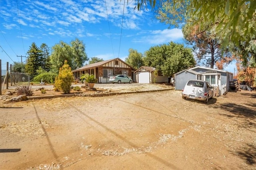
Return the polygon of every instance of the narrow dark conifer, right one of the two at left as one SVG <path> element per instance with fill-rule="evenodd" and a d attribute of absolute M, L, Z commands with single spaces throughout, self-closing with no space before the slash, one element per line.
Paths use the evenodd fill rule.
<path fill-rule="evenodd" d="M 51 62 L 50 62 L 50 48 L 46 43 L 42 43 L 40 46 L 40 50 L 42 51 L 42 69 L 46 72 L 49 72 L 51 69 Z"/>

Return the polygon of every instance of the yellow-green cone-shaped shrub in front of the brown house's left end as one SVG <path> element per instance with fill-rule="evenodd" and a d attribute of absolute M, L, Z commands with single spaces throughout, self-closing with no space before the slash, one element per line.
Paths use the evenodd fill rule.
<path fill-rule="evenodd" d="M 55 78 L 54 86 L 58 90 L 62 90 L 64 94 L 69 94 L 73 79 L 71 68 L 68 65 L 68 61 L 65 60 L 64 65 L 60 68 L 58 77 Z"/>

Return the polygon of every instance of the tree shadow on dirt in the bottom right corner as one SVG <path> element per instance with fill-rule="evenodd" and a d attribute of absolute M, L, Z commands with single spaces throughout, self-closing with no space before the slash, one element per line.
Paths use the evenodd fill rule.
<path fill-rule="evenodd" d="M 231 153 L 242 158 L 246 164 L 256 164 L 256 147 L 252 144 L 247 143 L 246 146 Z"/>

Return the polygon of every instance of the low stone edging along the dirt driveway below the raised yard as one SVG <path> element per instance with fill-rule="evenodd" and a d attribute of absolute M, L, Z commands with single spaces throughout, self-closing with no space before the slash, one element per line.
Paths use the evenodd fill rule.
<path fill-rule="evenodd" d="M 60 94 L 60 95 L 48 95 L 48 96 L 28 96 L 28 100 L 33 99 L 50 99 L 50 98 L 60 98 L 60 97 L 71 97 L 71 96 L 78 96 L 78 97 L 103 97 L 103 96 L 114 96 L 119 94 L 133 94 L 133 93 L 147 93 L 147 92 L 161 92 L 161 91 L 168 91 L 174 90 L 174 88 L 166 88 L 166 89 L 158 89 L 158 90 L 145 90 L 145 91 L 134 91 L 134 92 L 110 92 L 110 93 L 93 93 L 93 94 Z"/>

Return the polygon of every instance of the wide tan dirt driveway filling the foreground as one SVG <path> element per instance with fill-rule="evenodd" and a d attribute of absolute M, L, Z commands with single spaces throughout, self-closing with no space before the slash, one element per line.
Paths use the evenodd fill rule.
<path fill-rule="evenodd" d="M 0 169 L 256 169 L 256 93 L 0 103 Z"/>

